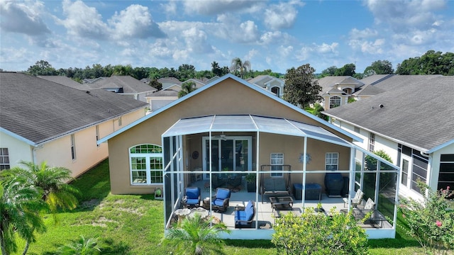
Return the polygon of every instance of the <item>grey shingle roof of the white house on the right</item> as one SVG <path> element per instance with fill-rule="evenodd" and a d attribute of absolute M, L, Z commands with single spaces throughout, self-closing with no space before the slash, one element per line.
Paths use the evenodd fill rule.
<path fill-rule="evenodd" d="M 454 77 L 410 78 L 412 82 L 323 113 L 426 153 L 454 143 Z"/>

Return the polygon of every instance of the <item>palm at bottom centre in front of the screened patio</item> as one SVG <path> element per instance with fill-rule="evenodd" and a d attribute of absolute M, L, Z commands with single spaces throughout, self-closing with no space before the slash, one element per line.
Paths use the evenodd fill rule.
<path fill-rule="evenodd" d="M 221 232 L 230 233 L 226 225 L 219 223 L 211 226 L 211 220 L 202 219 L 196 213 L 194 217 L 184 219 L 166 234 L 167 240 L 175 242 L 177 249 L 186 254 L 223 254 L 223 241 L 219 239 Z"/>

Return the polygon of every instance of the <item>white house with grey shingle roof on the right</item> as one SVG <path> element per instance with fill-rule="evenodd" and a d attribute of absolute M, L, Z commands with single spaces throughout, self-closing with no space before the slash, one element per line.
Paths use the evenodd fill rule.
<path fill-rule="evenodd" d="M 364 149 L 389 154 L 402 169 L 402 196 L 422 198 L 417 180 L 453 187 L 454 77 L 394 75 L 373 86 L 387 91 L 323 113 Z"/>

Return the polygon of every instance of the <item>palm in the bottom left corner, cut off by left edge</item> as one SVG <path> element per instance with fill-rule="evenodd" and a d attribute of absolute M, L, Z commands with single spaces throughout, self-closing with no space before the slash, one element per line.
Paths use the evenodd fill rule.
<path fill-rule="evenodd" d="M 18 249 L 16 237 L 35 242 L 35 231 L 45 232 L 45 225 L 39 212 L 46 207 L 40 199 L 40 191 L 29 185 L 23 176 L 1 178 L 0 186 L 0 245 L 1 254 L 15 253 Z"/>

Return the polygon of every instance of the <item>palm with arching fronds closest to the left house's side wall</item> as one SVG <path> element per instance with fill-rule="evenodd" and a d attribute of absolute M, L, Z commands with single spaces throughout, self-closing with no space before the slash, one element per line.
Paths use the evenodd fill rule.
<path fill-rule="evenodd" d="M 48 204 L 48 208 L 55 215 L 57 208 L 72 210 L 76 208 L 80 193 L 77 188 L 65 183 L 71 180 L 71 171 L 64 167 L 50 167 L 46 162 L 34 164 L 33 162 L 20 162 L 26 169 L 14 167 L 5 170 L 5 176 L 23 176 L 28 183 L 41 190 L 41 198 Z"/>

